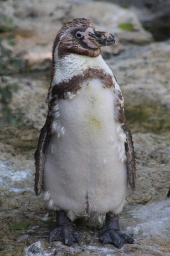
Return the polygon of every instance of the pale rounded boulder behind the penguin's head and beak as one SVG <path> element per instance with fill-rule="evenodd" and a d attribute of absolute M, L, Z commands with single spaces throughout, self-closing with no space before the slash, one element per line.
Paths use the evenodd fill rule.
<path fill-rule="evenodd" d="M 151 41 L 151 34 L 145 31 L 137 16 L 126 9 L 120 8 L 115 4 L 106 2 L 87 3 L 83 6 L 73 7 L 70 12 L 71 17 L 92 19 L 101 31 L 106 29 L 118 38 L 120 42 L 128 43 L 148 43 Z M 122 29 L 121 24 L 131 24 L 132 27 Z M 126 26 L 125 26 L 126 27 Z"/>

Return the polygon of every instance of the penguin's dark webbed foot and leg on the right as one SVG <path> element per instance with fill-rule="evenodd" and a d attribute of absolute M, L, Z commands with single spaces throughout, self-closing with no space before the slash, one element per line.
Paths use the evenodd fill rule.
<path fill-rule="evenodd" d="M 134 243 L 133 238 L 130 235 L 122 233 L 119 227 L 119 215 L 112 213 L 106 213 L 106 222 L 102 229 L 103 234 L 100 239 L 103 244 L 111 243 L 117 248 L 122 248 L 123 244 Z"/>

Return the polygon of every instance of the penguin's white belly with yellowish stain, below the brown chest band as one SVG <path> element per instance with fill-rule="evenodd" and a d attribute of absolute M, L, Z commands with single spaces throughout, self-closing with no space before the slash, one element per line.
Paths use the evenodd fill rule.
<path fill-rule="evenodd" d="M 51 135 L 44 166 L 49 207 L 74 218 L 119 213 L 127 190 L 126 137 L 114 119 L 114 93 L 94 79 L 58 104 L 64 132 Z"/>

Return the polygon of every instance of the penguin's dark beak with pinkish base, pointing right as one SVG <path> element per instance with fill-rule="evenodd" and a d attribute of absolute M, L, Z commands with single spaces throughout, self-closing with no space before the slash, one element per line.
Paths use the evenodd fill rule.
<path fill-rule="evenodd" d="M 101 31 L 94 31 L 93 33 L 89 32 L 88 39 L 97 47 L 109 46 L 114 44 L 116 41 L 114 35 L 109 32 Z"/>

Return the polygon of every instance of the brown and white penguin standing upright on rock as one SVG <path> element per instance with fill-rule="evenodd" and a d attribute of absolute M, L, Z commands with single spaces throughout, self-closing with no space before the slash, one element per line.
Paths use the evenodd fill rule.
<path fill-rule="evenodd" d="M 105 216 L 100 240 L 121 248 L 119 214 L 128 183 L 136 187 L 135 152 L 123 96 L 101 47 L 115 43 L 90 19 L 76 18 L 53 43 L 48 114 L 35 151 L 35 194 L 56 211 L 49 243 L 80 243 L 73 221 Z"/>

